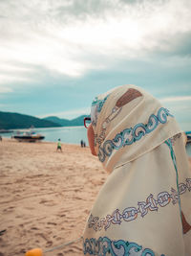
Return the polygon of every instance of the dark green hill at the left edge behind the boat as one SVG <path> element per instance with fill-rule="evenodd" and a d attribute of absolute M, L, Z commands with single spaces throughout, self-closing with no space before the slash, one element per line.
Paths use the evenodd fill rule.
<path fill-rule="evenodd" d="M 44 120 L 29 115 L 0 111 L 0 129 L 31 127 L 53 128 L 61 127 L 61 125 L 59 125 L 58 123 L 53 123 L 49 120 Z"/>

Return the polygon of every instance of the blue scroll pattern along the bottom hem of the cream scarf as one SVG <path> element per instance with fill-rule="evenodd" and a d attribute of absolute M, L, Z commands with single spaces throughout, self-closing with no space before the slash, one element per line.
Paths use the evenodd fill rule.
<path fill-rule="evenodd" d="M 108 253 L 112 256 L 155 256 L 153 250 L 149 248 L 143 249 L 141 245 L 136 243 L 129 243 L 124 240 L 112 241 L 108 237 L 99 237 L 98 240 L 95 238 L 86 239 L 83 242 L 84 255 L 89 253 L 91 255 L 105 256 Z M 164 256 L 161 254 L 160 256 Z"/>

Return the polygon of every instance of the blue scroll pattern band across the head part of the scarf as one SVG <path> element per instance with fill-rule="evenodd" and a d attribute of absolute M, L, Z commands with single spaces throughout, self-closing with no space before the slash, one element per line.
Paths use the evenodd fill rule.
<path fill-rule="evenodd" d="M 106 156 L 110 156 L 114 150 L 119 150 L 127 145 L 140 140 L 145 134 L 152 132 L 159 124 L 165 124 L 168 117 L 174 117 L 170 114 L 169 110 L 164 107 L 160 107 L 158 114 L 152 114 L 146 125 L 139 123 L 134 128 L 125 128 L 120 133 L 117 133 L 113 140 L 107 140 L 103 143 L 102 147 L 99 147 L 98 158 L 99 161 L 104 162 Z"/>

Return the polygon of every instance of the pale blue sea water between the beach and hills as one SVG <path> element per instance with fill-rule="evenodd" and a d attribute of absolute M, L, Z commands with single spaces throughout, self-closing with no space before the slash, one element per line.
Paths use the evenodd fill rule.
<path fill-rule="evenodd" d="M 84 127 L 33 128 L 32 130 L 45 136 L 44 141 L 57 142 L 60 139 L 62 143 L 80 145 L 80 141 L 83 140 L 88 145 L 87 129 Z M 16 131 L 14 130 L 13 134 Z M 0 133 L 0 135 L 10 138 L 12 133 Z M 186 146 L 186 151 L 191 156 L 191 144 Z"/>

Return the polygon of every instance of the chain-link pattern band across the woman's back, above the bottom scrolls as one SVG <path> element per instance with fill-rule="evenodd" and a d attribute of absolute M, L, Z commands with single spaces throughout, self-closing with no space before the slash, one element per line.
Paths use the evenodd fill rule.
<path fill-rule="evenodd" d="M 136 221 L 138 214 L 143 218 L 149 211 L 158 211 L 159 207 L 165 207 L 171 201 L 175 205 L 177 202 L 180 202 L 180 195 L 186 191 L 191 191 L 191 178 L 186 178 L 185 183 L 178 184 L 178 188 L 178 192 L 174 188 L 171 188 L 171 193 L 162 191 L 158 194 L 157 198 L 150 194 L 145 201 L 138 201 L 138 207 L 130 206 L 121 212 L 116 209 L 112 214 L 108 214 L 100 219 L 91 214 L 88 220 L 88 227 L 93 228 L 95 231 L 100 231 L 102 228 L 107 230 L 113 224 L 120 225 L 122 221 Z"/>

